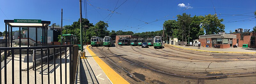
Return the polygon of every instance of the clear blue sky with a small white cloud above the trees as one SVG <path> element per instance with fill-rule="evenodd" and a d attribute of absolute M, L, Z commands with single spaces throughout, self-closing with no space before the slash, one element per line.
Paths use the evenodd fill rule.
<path fill-rule="evenodd" d="M 90 23 L 96 24 L 114 11 L 116 4 L 117 8 L 126 0 L 88 1 L 87 18 Z M 97 7 L 102 9 L 97 9 Z M 235 31 L 236 28 L 252 30 L 256 24 L 253 13 L 256 10 L 256 0 L 127 0 L 115 10 L 117 13 L 109 15 L 103 21 L 108 21 L 108 30 L 156 31 L 163 29 L 161 26 L 165 21 L 156 21 L 156 19 L 177 19 L 173 17 L 184 12 L 191 15 L 214 14 L 213 7 L 220 16 L 219 19 L 224 19 L 225 22 L 222 23 L 225 24 L 227 33 L 229 30 Z M 1 0 L 0 8 L 4 12 L 0 11 L 0 31 L 2 32 L 5 30 L 4 19 L 42 19 L 61 24 L 61 8 L 63 8 L 63 26 L 71 25 L 79 19 L 79 0 Z M 188 9 L 184 10 L 185 8 Z M 84 2 L 82 2 L 82 9 L 84 18 Z M 155 22 L 141 25 L 144 24 L 142 21 Z M 137 27 L 134 28 L 135 26 Z"/>

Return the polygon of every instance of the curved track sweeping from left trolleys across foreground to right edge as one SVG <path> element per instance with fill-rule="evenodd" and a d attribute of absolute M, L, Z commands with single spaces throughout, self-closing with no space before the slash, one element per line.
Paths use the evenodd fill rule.
<path fill-rule="evenodd" d="M 104 48 L 104 47 L 103 47 Z M 103 50 L 102 48 L 102 50 Z M 109 49 L 108 49 L 109 50 Z M 129 61 L 123 57 L 120 57 L 118 55 L 116 55 L 115 53 L 113 53 L 112 51 L 109 50 L 110 53 L 112 53 L 113 55 L 115 55 L 116 57 L 120 58 L 120 59 L 123 59 L 129 63 L 132 63 L 134 65 L 137 65 L 137 66 L 140 66 L 140 67 L 143 67 L 143 68 L 146 68 L 146 69 L 149 69 L 149 70 L 152 70 L 152 71 L 155 71 L 155 72 L 158 72 L 158 73 L 163 73 L 163 74 L 167 74 L 167 75 L 172 75 L 172 76 L 176 76 L 176 77 L 183 77 L 183 78 L 191 78 L 191 79 L 221 79 L 219 77 L 223 77 L 223 76 L 232 76 L 232 75 L 242 75 L 242 74 L 255 74 L 255 72 L 248 72 L 248 73 L 233 73 L 233 74 L 223 74 L 223 75 L 214 75 L 214 76 L 186 76 L 186 75 L 178 75 L 178 74 L 174 74 L 174 73 L 166 73 L 164 71 L 159 71 L 159 70 L 155 70 L 155 69 L 152 69 L 152 68 L 149 68 L 149 67 L 145 67 L 145 66 L 142 66 L 142 65 L 139 65 L 139 64 L 136 64 L 132 61 Z M 102 53 L 104 53 L 102 51 Z M 106 56 L 106 55 L 105 55 Z M 106 56 L 107 57 L 107 56 Z M 117 65 L 117 64 L 116 64 Z M 121 66 L 120 66 L 121 67 Z"/>

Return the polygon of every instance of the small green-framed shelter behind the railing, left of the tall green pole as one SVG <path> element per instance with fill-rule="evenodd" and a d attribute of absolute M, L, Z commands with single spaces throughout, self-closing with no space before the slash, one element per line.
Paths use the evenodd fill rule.
<path fill-rule="evenodd" d="M 77 44 L 77 36 L 73 34 L 62 34 L 66 45 Z"/>

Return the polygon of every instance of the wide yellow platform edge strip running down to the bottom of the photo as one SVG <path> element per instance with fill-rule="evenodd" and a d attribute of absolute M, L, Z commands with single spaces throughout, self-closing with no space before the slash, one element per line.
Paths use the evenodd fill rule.
<path fill-rule="evenodd" d="M 92 55 L 93 59 L 100 66 L 102 71 L 108 76 L 108 79 L 113 84 L 130 84 L 122 76 L 120 76 L 118 73 L 116 73 L 111 67 L 109 67 L 104 61 L 102 61 L 100 59 L 100 57 L 98 57 L 95 53 L 93 53 L 92 50 L 89 49 L 89 46 L 87 46 L 86 49 L 89 51 L 89 53 Z"/>

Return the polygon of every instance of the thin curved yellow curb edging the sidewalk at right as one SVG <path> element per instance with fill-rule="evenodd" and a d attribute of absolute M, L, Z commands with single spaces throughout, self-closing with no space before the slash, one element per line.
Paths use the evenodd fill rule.
<path fill-rule="evenodd" d="M 196 50 L 196 49 L 189 49 L 189 48 L 183 48 L 183 47 L 178 47 L 175 45 L 171 45 L 177 48 L 181 49 L 187 49 L 187 50 Z M 213 52 L 213 53 L 245 53 L 245 54 L 256 54 L 256 52 L 223 52 L 223 51 L 206 51 L 206 50 L 196 50 L 196 51 L 202 51 L 202 52 Z"/>

